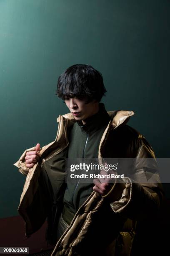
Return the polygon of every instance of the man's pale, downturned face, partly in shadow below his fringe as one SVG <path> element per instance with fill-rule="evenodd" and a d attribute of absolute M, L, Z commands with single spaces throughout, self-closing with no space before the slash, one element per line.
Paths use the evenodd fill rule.
<path fill-rule="evenodd" d="M 85 124 L 85 119 L 96 114 L 99 110 L 99 102 L 93 100 L 92 102 L 86 103 L 86 99 L 78 99 L 77 97 L 65 97 L 65 104 L 69 108 L 75 120 Z"/>

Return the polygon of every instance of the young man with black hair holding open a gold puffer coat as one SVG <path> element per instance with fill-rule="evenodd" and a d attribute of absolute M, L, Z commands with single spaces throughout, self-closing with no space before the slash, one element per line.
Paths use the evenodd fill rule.
<path fill-rule="evenodd" d="M 27 175 L 20 215 L 27 236 L 48 221 L 52 255 L 130 255 L 136 220 L 155 214 L 163 199 L 155 159 L 145 138 L 126 125 L 133 111 L 110 111 L 100 103 L 102 75 L 77 64 L 60 75 L 57 95 L 70 110 L 60 115 L 55 141 L 26 150 L 15 166 Z M 152 183 L 130 177 L 65 183 L 65 159 L 135 159 L 135 181 L 152 173 Z M 139 159 L 143 161 L 139 161 Z M 156 163 L 156 161 L 154 160 Z M 147 163 L 147 164 L 146 164 Z M 105 171 L 101 171 L 103 174 Z"/>

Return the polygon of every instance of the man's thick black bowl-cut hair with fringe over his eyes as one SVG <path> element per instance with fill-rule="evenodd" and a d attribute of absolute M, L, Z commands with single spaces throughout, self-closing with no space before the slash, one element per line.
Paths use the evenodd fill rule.
<path fill-rule="evenodd" d="M 62 100 L 65 97 L 86 98 L 100 102 L 106 89 L 102 74 L 90 65 L 75 64 L 60 75 L 57 82 L 56 95 Z"/>

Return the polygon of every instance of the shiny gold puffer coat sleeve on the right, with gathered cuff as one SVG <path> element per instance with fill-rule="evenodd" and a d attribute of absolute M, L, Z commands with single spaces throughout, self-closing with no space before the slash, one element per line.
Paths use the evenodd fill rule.
<path fill-rule="evenodd" d="M 155 215 L 163 202 L 164 192 L 152 147 L 141 134 L 135 140 L 135 146 L 137 155 L 133 178 L 125 177 L 122 183 L 116 179 L 110 192 L 103 197 L 109 200 L 114 212 L 126 218 L 142 220 Z M 143 182 L 144 177 L 152 177 L 152 183 Z"/>

